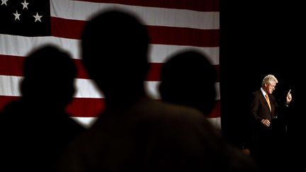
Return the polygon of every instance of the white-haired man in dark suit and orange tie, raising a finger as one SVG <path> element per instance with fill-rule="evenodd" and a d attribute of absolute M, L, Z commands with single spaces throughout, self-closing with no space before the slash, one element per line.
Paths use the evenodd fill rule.
<path fill-rule="evenodd" d="M 251 156 L 254 157 L 260 168 L 275 169 L 283 150 L 283 133 L 285 125 L 284 108 L 292 101 L 290 90 L 285 103 L 278 103 L 272 95 L 278 80 L 268 74 L 263 78 L 261 88 L 252 94 L 250 113 L 253 119 L 251 130 Z M 277 165 L 279 166 L 279 165 Z"/>

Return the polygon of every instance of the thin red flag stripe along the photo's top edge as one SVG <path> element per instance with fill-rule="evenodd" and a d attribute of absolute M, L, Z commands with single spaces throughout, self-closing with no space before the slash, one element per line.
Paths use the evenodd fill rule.
<path fill-rule="evenodd" d="M 154 0 L 154 1 L 143 1 L 143 0 L 79 0 L 89 2 L 100 2 L 110 4 L 125 4 L 132 6 L 151 6 L 161 8 L 178 8 L 178 9 L 190 9 L 195 11 L 219 11 L 219 0 Z"/>

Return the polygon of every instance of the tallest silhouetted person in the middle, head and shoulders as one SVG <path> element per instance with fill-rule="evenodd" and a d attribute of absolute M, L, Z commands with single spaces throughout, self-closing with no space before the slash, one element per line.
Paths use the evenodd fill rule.
<path fill-rule="evenodd" d="M 103 11 L 81 38 L 84 67 L 104 93 L 106 111 L 69 147 L 61 171 L 223 169 L 221 138 L 200 111 L 145 94 L 149 37 L 139 19 Z"/>

